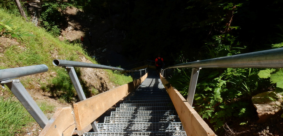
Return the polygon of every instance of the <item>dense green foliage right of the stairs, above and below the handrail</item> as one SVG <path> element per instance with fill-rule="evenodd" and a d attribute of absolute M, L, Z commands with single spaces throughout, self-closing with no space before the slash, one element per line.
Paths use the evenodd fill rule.
<path fill-rule="evenodd" d="M 267 23 L 262 29 L 270 29 L 265 35 L 256 31 L 262 29 L 245 28 L 245 23 L 250 20 L 258 20 L 258 10 L 253 6 L 258 5 L 252 1 L 189 1 L 188 10 L 190 10 L 191 21 L 186 24 L 185 30 L 195 30 L 197 36 L 199 31 L 206 33 L 204 43 L 202 43 L 199 54 L 196 59 L 211 59 L 221 56 L 230 56 L 240 53 L 252 52 L 256 50 L 271 49 L 273 47 L 282 47 L 282 28 L 280 17 L 282 8 L 277 7 L 279 1 L 268 3 L 261 18 L 269 18 L 267 13 L 276 16 L 274 22 Z M 263 10 L 263 9 L 260 9 Z M 251 18 L 246 18 L 246 13 L 254 13 Z M 261 11 L 263 13 L 263 11 Z M 245 20 L 244 22 L 244 19 Z M 259 23 L 259 22 L 257 22 Z M 256 24 L 259 25 L 259 24 Z M 246 34 L 249 33 L 249 36 Z M 280 33 L 280 34 L 278 34 Z M 269 36 L 272 35 L 272 36 Z M 253 38 L 257 39 L 256 41 Z M 261 42 L 261 43 L 260 43 Z M 279 43 L 279 44 L 275 44 Z M 187 58 L 187 59 L 184 59 Z M 190 56 L 181 54 L 179 62 L 184 63 L 192 60 Z M 190 70 L 177 69 L 170 82 L 185 97 L 188 93 L 190 82 Z M 270 81 L 272 84 L 270 84 Z M 275 86 L 282 88 L 282 70 L 281 69 L 256 69 L 256 68 L 227 68 L 227 69 L 202 69 L 198 79 L 196 93 L 194 96 L 195 109 L 206 119 L 214 130 L 221 134 L 224 124 L 238 123 L 246 125 L 254 116 L 255 109 L 251 103 L 251 97 L 263 91 L 270 91 Z M 282 89 L 276 89 L 282 90 Z M 238 119 L 241 122 L 238 122 Z"/>

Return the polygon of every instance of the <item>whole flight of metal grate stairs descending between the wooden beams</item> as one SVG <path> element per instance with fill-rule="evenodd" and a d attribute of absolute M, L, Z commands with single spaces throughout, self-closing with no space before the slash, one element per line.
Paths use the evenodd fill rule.
<path fill-rule="evenodd" d="M 98 123 L 99 133 L 84 133 L 84 136 L 186 136 L 182 124 L 158 77 L 147 77 L 128 96 L 104 123 Z"/>

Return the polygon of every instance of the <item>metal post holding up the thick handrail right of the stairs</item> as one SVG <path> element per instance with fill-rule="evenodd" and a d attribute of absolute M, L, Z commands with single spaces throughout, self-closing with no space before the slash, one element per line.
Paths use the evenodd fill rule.
<path fill-rule="evenodd" d="M 199 77 L 199 70 L 201 68 L 192 68 L 192 75 L 190 79 L 190 86 L 188 91 L 187 101 L 192 106 L 192 102 L 194 100 L 194 92 L 197 86 L 197 78 Z"/>

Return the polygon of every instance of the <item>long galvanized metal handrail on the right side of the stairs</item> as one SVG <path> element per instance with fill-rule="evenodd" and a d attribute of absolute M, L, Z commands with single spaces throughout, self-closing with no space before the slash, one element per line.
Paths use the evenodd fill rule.
<path fill-rule="evenodd" d="M 169 68 L 283 68 L 283 48 L 177 64 L 164 70 Z"/>

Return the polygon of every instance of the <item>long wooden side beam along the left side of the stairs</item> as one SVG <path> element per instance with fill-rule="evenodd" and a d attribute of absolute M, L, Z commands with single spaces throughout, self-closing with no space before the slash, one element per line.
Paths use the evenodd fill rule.
<path fill-rule="evenodd" d="M 123 99 L 146 79 L 148 74 L 128 84 L 100 93 L 86 100 L 73 104 L 77 130 L 83 130 L 105 111 Z"/>

